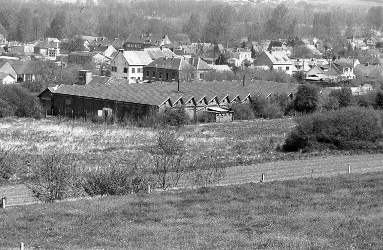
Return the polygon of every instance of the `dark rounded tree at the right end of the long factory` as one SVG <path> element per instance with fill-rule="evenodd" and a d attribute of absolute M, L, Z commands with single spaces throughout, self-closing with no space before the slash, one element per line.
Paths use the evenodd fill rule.
<path fill-rule="evenodd" d="M 311 113 L 319 104 L 319 88 L 313 84 L 302 84 L 298 87 L 294 107 L 297 111 Z"/>

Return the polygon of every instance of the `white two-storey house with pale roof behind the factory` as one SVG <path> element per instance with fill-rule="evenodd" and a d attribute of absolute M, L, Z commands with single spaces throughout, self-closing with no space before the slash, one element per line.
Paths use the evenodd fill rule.
<path fill-rule="evenodd" d="M 110 63 L 110 76 L 129 79 L 129 82 L 143 79 L 143 67 L 153 60 L 146 51 L 120 49 Z"/>

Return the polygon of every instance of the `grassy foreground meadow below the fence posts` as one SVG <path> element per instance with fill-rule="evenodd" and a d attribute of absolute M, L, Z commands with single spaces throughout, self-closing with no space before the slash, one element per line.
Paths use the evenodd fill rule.
<path fill-rule="evenodd" d="M 0 210 L 0 249 L 379 249 L 383 172 Z"/>

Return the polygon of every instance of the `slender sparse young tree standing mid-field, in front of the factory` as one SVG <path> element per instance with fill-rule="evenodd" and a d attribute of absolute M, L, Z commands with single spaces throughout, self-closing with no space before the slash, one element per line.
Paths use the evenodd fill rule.
<path fill-rule="evenodd" d="M 177 186 L 180 178 L 190 171 L 185 162 L 184 142 L 169 128 L 158 131 L 155 145 L 145 148 L 153 161 L 153 174 L 163 190 Z"/>

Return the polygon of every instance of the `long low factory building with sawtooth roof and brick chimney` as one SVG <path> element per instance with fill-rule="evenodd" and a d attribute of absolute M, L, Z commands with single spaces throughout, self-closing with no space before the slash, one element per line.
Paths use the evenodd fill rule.
<path fill-rule="evenodd" d="M 63 84 L 39 94 L 48 114 L 73 117 L 90 113 L 116 117 L 127 114 L 142 118 L 151 115 L 153 110 L 184 105 L 190 119 L 207 112 L 214 114 L 216 122 L 224 122 L 232 120 L 233 112 L 227 109 L 232 103 L 266 98 L 271 93 L 291 95 L 299 86 L 257 80 L 245 85 L 242 81 L 128 84 L 129 79 L 94 76 L 90 71 L 82 72 L 79 79 L 79 84 Z"/>

